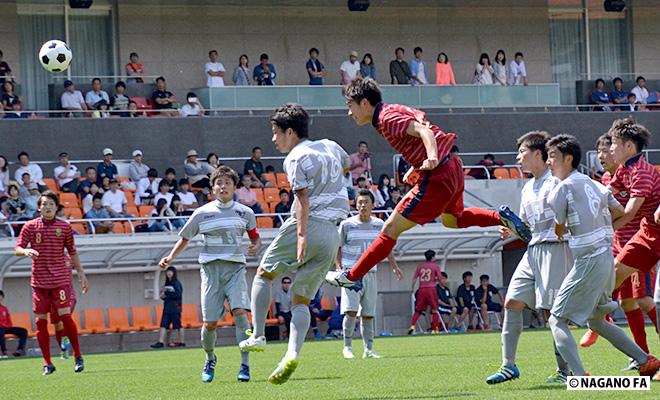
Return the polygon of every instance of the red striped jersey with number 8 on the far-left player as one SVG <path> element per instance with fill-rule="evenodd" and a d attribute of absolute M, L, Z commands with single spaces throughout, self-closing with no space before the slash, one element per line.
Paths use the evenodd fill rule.
<path fill-rule="evenodd" d="M 32 279 L 35 288 L 54 289 L 71 285 L 71 266 L 67 266 L 64 249 L 70 256 L 77 254 L 71 225 L 59 218 L 46 221 L 35 218 L 21 230 L 16 247 L 30 245 L 39 252 L 32 260 Z"/>

